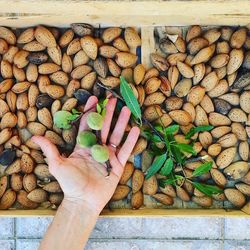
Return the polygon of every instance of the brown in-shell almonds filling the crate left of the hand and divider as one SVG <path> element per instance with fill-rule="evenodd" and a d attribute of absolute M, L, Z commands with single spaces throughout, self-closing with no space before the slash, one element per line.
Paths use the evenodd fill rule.
<path fill-rule="evenodd" d="M 58 110 L 82 111 L 92 94 L 104 97 L 137 62 L 141 39 L 134 28 L 89 24 L 63 30 L 44 26 L 25 30 L 0 27 L 0 209 L 58 206 L 63 193 L 40 148 L 41 135 L 65 155 L 72 152 L 77 128 L 53 124 Z"/>

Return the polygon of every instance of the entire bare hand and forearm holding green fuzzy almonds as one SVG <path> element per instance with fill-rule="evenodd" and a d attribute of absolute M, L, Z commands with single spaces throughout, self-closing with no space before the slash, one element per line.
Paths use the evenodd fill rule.
<path fill-rule="evenodd" d="M 91 96 L 86 103 L 85 111 L 95 111 L 97 102 L 97 98 Z M 106 164 L 99 164 L 93 160 L 89 149 L 82 149 L 76 145 L 73 153 L 65 158 L 46 138 L 32 137 L 47 157 L 49 170 L 64 192 L 64 200 L 40 249 L 83 249 L 100 212 L 112 197 L 140 134 L 139 128 L 133 127 L 124 144 L 120 145 L 130 118 L 130 110 L 123 107 L 114 130 L 110 131 L 116 102 L 115 98 L 109 99 L 101 130 L 101 141 L 109 148 L 109 161 L 112 167 L 108 177 Z M 79 132 L 89 130 L 86 122 L 87 114 L 88 112 L 81 118 Z M 111 146 L 112 144 L 117 148 Z"/>

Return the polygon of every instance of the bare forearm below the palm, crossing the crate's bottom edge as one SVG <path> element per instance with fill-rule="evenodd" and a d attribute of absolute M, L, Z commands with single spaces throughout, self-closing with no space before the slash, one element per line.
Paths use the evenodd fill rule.
<path fill-rule="evenodd" d="M 41 243 L 40 250 L 83 249 L 99 213 L 84 204 L 63 201 Z"/>

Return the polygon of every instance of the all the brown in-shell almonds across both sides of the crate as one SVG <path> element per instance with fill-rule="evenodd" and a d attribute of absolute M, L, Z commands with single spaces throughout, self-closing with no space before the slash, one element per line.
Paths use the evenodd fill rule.
<path fill-rule="evenodd" d="M 148 121 L 164 127 L 180 125 L 174 135 L 177 142 L 189 143 L 185 134 L 193 126 L 214 126 L 194 135 L 194 149 L 213 161 L 201 182 L 210 181 L 224 193 L 207 197 L 189 182 L 161 188 L 160 175 L 145 180 L 153 159 L 147 140 L 140 137 L 133 156 L 141 154 L 141 168 L 126 164 L 111 201 L 129 197 L 131 207 L 138 209 L 146 196 L 164 205 L 179 198 L 204 207 L 213 200 L 228 200 L 250 213 L 249 30 L 191 26 L 185 35 L 167 34 L 159 40 L 160 51 L 151 54 L 149 69 L 137 63 L 135 51 L 140 45 L 140 36 L 130 27 L 99 30 L 72 24 L 67 30 L 37 26 L 21 31 L 0 27 L 0 164 L 4 166 L 0 209 L 60 204 L 61 188 L 30 137 L 43 135 L 68 155 L 77 128 L 56 128 L 55 112 L 82 111 L 90 95 L 105 96 L 97 82 L 116 89 L 122 75 Z M 187 163 L 185 173 L 191 176 L 201 164 Z"/>

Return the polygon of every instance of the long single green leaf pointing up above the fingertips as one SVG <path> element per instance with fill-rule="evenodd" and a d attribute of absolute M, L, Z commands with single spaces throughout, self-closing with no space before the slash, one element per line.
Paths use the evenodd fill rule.
<path fill-rule="evenodd" d="M 142 122 L 141 122 L 140 105 L 139 105 L 132 89 L 130 88 L 129 84 L 127 83 L 127 81 L 125 80 L 125 78 L 123 76 L 120 77 L 120 92 L 121 92 L 121 95 L 122 95 L 126 105 L 130 109 L 131 113 L 134 115 L 134 117 L 137 120 L 139 120 L 139 122 L 141 124 Z"/>

